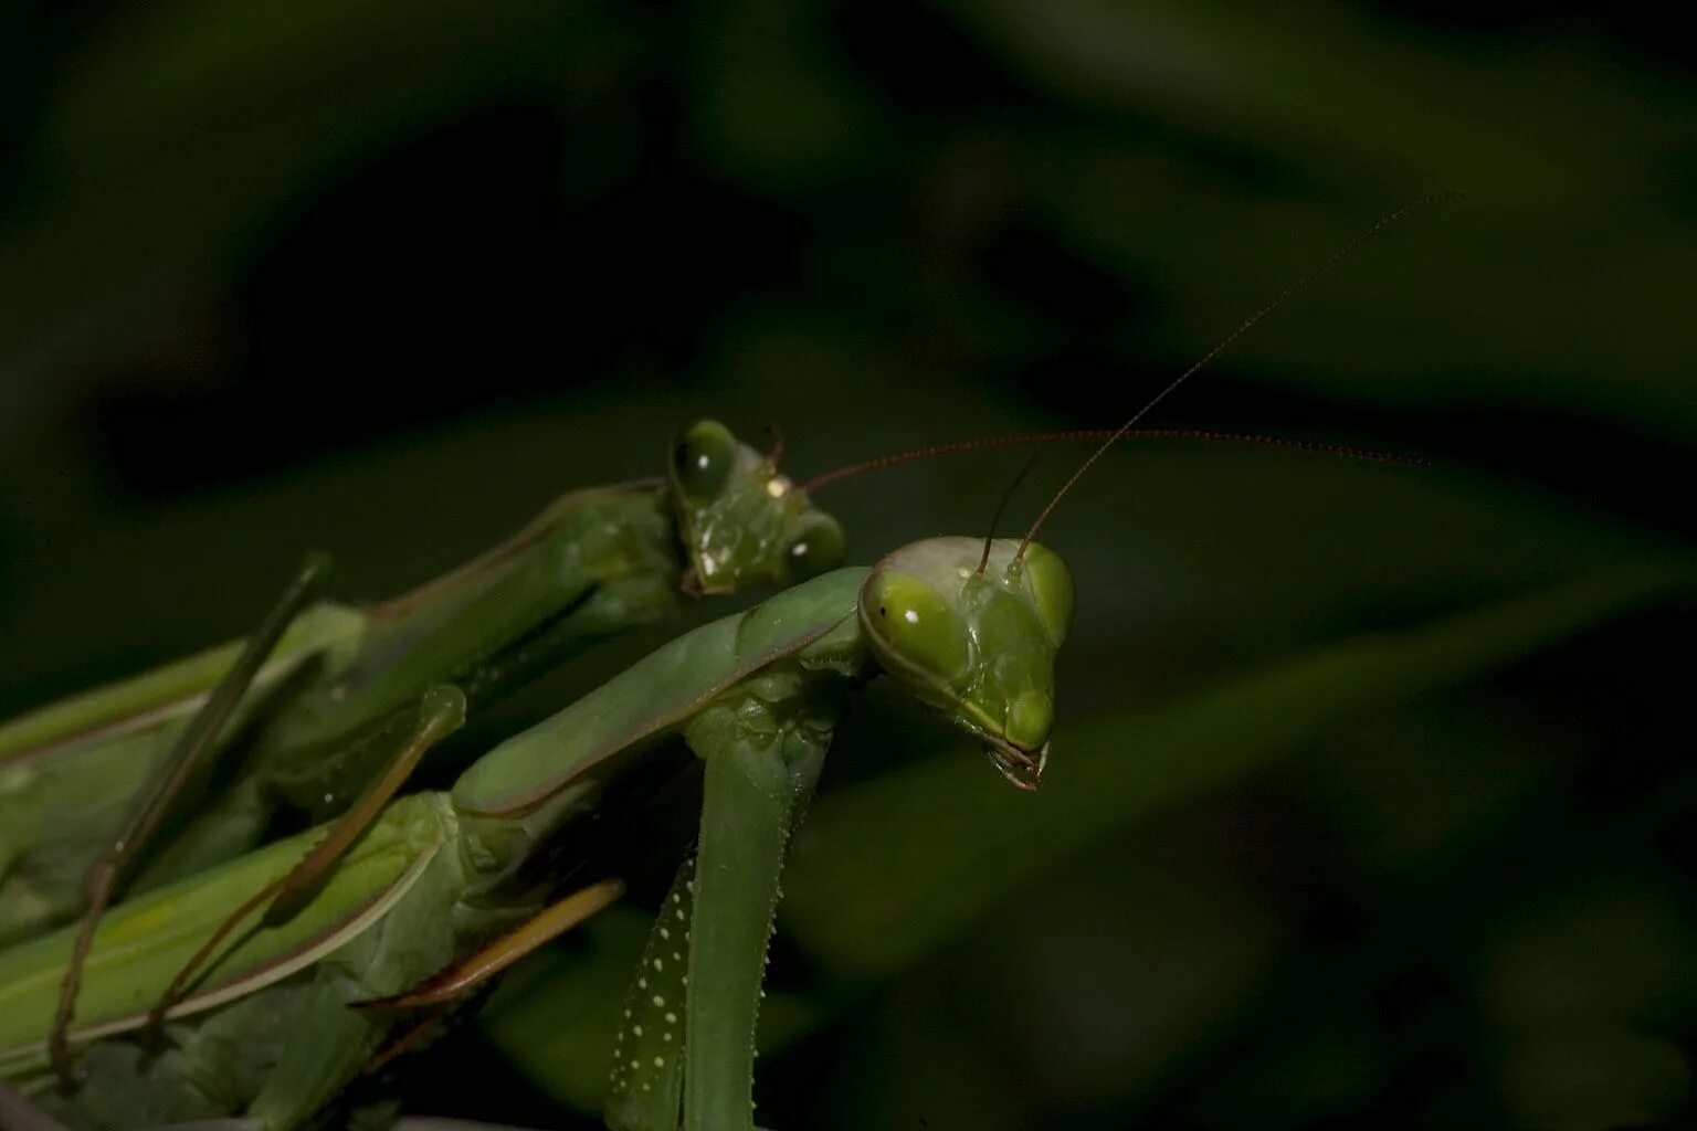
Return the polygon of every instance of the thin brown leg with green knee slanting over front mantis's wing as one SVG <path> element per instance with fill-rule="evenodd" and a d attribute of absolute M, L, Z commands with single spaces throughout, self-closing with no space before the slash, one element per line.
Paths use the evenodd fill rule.
<path fill-rule="evenodd" d="M 324 877 L 329 875 L 329 870 L 336 866 L 336 861 L 353 848 L 360 836 L 372 826 L 372 821 L 382 814 L 384 805 L 389 804 L 412 775 L 424 751 L 453 734 L 463 722 L 465 694 L 460 688 L 440 683 L 426 690 L 419 700 L 417 724 L 395 749 L 384 772 L 365 787 L 353 807 L 302 856 L 300 863 L 277 882 L 255 892 L 251 899 L 243 902 L 207 936 L 207 941 L 176 972 L 176 977 L 171 978 L 160 1002 L 153 1007 L 151 1024 L 165 1019 L 165 1012 L 182 999 L 183 990 L 187 990 L 195 973 L 217 951 L 229 933 L 246 921 L 256 907 L 266 907 L 265 919 L 261 921 L 263 926 L 275 926 L 294 916 L 312 897 Z"/>

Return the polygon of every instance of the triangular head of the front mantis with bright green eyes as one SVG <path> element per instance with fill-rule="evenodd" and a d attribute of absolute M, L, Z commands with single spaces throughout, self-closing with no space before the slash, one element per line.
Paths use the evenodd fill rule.
<path fill-rule="evenodd" d="M 983 568 L 979 563 L 983 561 Z M 1020 788 L 1037 788 L 1054 724 L 1054 661 L 1073 624 L 1073 575 L 1037 543 L 984 553 L 930 538 L 879 561 L 860 587 L 872 655 L 923 702 L 984 743 Z"/>

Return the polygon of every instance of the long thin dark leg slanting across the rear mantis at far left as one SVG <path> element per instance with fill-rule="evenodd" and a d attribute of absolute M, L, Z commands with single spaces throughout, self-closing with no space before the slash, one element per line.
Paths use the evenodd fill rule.
<path fill-rule="evenodd" d="M 183 729 L 176 748 L 165 760 L 160 777 L 154 780 L 148 799 L 136 811 L 124 831 L 112 846 L 102 853 L 100 860 L 88 870 L 88 911 L 83 914 L 76 933 L 76 948 L 71 963 L 64 972 L 64 983 L 59 989 L 59 1007 L 53 1017 L 53 1033 L 48 1048 L 53 1056 L 53 1068 L 64 1084 L 75 1084 L 76 1063 L 71 1056 L 70 1029 L 76 1014 L 76 992 L 81 985 L 83 965 L 88 960 L 88 948 L 93 944 L 95 926 L 105 914 L 107 904 L 117 894 L 126 873 L 134 866 L 136 858 L 160 831 L 171 804 L 188 783 L 190 775 L 216 746 L 229 714 L 241 702 L 241 697 L 253 685 L 266 658 L 277 648 L 288 622 L 295 619 L 302 607 L 312 599 L 319 578 L 329 570 L 329 560 L 312 554 L 283 590 L 282 599 L 272 607 L 260 629 L 248 638 L 236 665 L 219 680 L 207 697 L 205 705 Z"/>

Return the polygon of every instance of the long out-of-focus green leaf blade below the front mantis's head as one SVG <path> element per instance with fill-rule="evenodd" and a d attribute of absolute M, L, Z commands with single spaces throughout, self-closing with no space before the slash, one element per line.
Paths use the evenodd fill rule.
<path fill-rule="evenodd" d="M 1655 566 L 1583 577 L 1324 648 L 1140 719 L 1069 727 L 1062 716 L 1035 795 L 967 758 L 840 790 L 798 836 L 782 926 L 838 975 L 888 975 L 1103 834 L 1252 773 L 1351 712 L 1471 678 L 1677 580 Z"/>

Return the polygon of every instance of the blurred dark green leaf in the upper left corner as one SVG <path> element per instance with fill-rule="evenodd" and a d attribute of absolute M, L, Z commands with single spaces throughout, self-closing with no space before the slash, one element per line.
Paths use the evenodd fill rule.
<path fill-rule="evenodd" d="M 239 239 L 348 161 L 580 70 L 594 12 L 178 0 L 112 14 L 63 61 L 29 154 L 39 202 L 0 226 L 0 363 L 93 326 L 134 343 L 137 322 L 180 317 L 173 288 L 216 283 Z"/>

